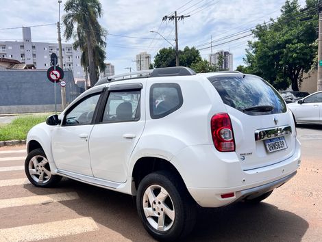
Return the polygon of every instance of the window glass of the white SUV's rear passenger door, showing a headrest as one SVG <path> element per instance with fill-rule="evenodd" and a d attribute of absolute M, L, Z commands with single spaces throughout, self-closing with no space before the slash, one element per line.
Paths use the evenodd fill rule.
<path fill-rule="evenodd" d="M 129 122 L 140 119 L 140 90 L 110 92 L 103 122 Z"/>

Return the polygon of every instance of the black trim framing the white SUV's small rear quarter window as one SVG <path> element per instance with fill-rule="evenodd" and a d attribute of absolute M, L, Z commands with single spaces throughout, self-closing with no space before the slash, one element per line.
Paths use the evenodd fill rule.
<path fill-rule="evenodd" d="M 179 104 L 176 107 L 173 107 L 172 109 L 169 109 L 168 111 L 161 113 L 161 114 L 154 114 L 153 113 L 153 89 L 154 88 L 175 88 L 177 90 L 178 96 L 179 96 Z M 150 116 L 152 119 L 159 119 L 164 118 L 165 116 L 168 116 L 169 114 L 173 113 L 174 111 L 177 111 L 182 105 L 184 104 L 184 98 L 182 96 L 182 90 L 178 83 L 153 83 L 150 88 L 150 94 L 149 94 L 149 109 L 150 109 Z"/>

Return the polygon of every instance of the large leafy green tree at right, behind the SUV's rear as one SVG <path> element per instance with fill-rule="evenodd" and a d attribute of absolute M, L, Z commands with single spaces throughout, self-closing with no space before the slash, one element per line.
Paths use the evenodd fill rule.
<path fill-rule="evenodd" d="M 250 41 L 245 62 L 249 73 L 267 79 L 277 89 L 299 90 L 303 72 L 312 66 L 317 47 L 318 26 L 316 9 L 317 0 L 307 0 L 307 10 L 301 9 L 297 0 L 286 1 L 282 14 L 271 24 L 258 25 L 253 29 L 257 38 Z M 312 16 L 312 19 L 304 17 Z"/>

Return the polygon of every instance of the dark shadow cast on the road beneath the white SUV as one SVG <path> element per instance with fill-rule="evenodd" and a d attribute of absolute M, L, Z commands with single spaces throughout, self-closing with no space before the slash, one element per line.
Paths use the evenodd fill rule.
<path fill-rule="evenodd" d="M 153 241 L 140 223 L 132 196 L 69 179 L 50 192 L 31 185 L 25 188 L 38 195 L 75 191 L 79 200 L 60 203 L 127 239 Z M 218 209 L 198 208 L 195 229 L 186 241 L 301 241 L 307 229 L 306 220 L 271 204 L 237 203 Z"/>

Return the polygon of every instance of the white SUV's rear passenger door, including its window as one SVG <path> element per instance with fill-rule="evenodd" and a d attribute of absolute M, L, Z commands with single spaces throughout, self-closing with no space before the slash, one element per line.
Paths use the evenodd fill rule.
<path fill-rule="evenodd" d="M 111 85 L 101 120 L 90 134 L 90 161 L 96 178 L 124 183 L 127 162 L 145 126 L 142 84 Z"/>

